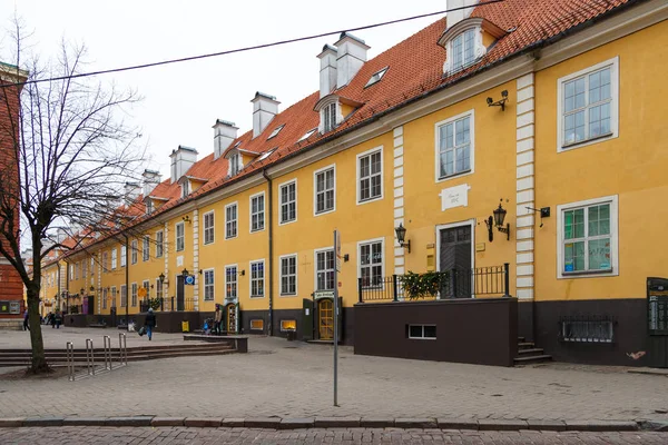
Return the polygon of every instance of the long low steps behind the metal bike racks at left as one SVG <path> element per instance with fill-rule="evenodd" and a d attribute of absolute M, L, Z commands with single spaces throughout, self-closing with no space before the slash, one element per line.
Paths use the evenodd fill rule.
<path fill-rule="evenodd" d="M 128 347 L 128 362 L 151 360 L 158 358 L 190 357 L 190 356 L 210 356 L 233 354 L 237 350 L 228 345 L 220 343 L 209 343 L 204 345 L 166 345 L 166 346 L 138 346 Z M 111 348 L 111 359 L 119 357 L 118 347 Z M 65 349 L 46 349 L 47 363 L 50 366 L 59 367 L 67 365 L 67 352 Z M 95 348 L 94 356 L 96 363 L 105 362 L 104 348 Z M 0 367 L 8 366 L 28 366 L 30 365 L 30 349 L 0 349 Z M 86 349 L 75 349 L 75 363 L 81 366 L 86 365 Z"/>

